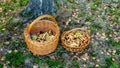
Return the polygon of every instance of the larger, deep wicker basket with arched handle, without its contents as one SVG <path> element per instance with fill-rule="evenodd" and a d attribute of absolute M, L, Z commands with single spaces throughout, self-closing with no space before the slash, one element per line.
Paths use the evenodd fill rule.
<path fill-rule="evenodd" d="M 44 18 L 50 18 L 50 20 L 45 20 Z M 42 19 L 42 20 L 41 20 Z M 46 32 L 52 30 L 54 38 L 45 41 L 44 43 L 32 40 L 30 33 L 36 34 L 40 31 Z M 42 15 L 35 19 L 30 25 L 28 25 L 24 30 L 25 42 L 28 49 L 33 53 L 33 55 L 47 55 L 55 51 L 58 40 L 59 40 L 60 30 L 57 22 L 53 16 Z"/>

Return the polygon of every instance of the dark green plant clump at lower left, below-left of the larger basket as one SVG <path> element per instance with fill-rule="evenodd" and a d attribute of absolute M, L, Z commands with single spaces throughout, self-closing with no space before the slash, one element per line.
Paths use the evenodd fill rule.
<path fill-rule="evenodd" d="M 6 55 L 6 61 L 9 61 L 10 66 L 20 66 L 24 63 L 25 56 L 22 52 L 11 52 Z"/>

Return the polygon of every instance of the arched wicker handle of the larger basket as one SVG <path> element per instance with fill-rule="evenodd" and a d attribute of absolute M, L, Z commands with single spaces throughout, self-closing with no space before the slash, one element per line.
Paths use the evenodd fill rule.
<path fill-rule="evenodd" d="M 48 15 L 48 14 L 45 14 L 45 15 L 42 15 L 42 16 L 39 16 L 37 19 L 35 19 L 30 25 L 29 25 L 29 28 L 28 28 L 28 32 L 30 32 L 32 26 L 38 22 L 40 19 L 43 19 L 43 18 L 50 18 L 52 19 L 52 21 L 54 22 L 55 25 L 57 25 L 57 21 L 55 20 L 55 18 L 51 15 Z"/>

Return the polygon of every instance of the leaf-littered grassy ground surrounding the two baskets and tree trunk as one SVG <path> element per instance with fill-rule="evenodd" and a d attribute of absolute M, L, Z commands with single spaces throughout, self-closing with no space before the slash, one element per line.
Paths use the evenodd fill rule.
<path fill-rule="evenodd" d="M 59 42 L 55 52 L 45 56 L 34 56 L 24 41 L 27 14 L 20 13 L 29 0 L 4 1 L 0 1 L 0 68 L 120 68 L 120 0 L 57 2 L 61 33 L 87 27 L 91 39 L 81 54 L 67 51 Z"/>

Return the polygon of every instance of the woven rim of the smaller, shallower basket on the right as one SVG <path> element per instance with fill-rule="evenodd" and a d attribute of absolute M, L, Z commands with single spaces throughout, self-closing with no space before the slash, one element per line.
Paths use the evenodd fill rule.
<path fill-rule="evenodd" d="M 70 32 L 75 32 L 75 31 L 81 30 L 81 29 L 82 29 L 82 30 L 87 30 L 87 31 L 89 32 L 89 34 L 88 34 L 88 43 L 85 44 L 85 46 L 87 46 L 87 45 L 89 44 L 89 42 L 90 42 L 90 30 L 88 30 L 88 29 L 86 29 L 86 28 L 74 28 L 74 29 L 65 31 L 65 32 L 62 34 L 62 36 L 61 36 L 62 43 L 64 44 L 63 46 L 66 46 L 66 47 L 68 47 L 68 48 L 73 48 L 73 49 L 79 49 L 79 48 L 81 48 L 82 46 L 79 46 L 79 47 L 71 47 L 71 46 L 68 46 L 68 44 L 66 44 L 66 43 L 63 41 L 64 38 L 65 38 L 65 35 L 69 34 Z"/>

